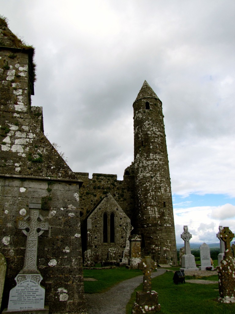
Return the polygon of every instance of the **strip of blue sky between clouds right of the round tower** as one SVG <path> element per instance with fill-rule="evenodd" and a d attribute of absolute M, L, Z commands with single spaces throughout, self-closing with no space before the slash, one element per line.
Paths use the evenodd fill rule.
<path fill-rule="evenodd" d="M 172 195 L 173 208 L 187 208 L 199 206 L 222 206 L 224 204 L 235 205 L 235 198 L 225 194 L 190 194 L 187 197 Z"/>

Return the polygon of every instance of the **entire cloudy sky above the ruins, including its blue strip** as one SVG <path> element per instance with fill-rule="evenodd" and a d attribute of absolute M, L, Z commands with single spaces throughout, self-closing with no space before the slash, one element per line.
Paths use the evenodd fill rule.
<path fill-rule="evenodd" d="M 133 101 L 163 103 L 177 242 L 235 231 L 235 2 L 8 0 L 9 28 L 35 47 L 33 106 L 73 171 L 133 161 Z M 182 241 L 183 244 L 183 241 Z"/>

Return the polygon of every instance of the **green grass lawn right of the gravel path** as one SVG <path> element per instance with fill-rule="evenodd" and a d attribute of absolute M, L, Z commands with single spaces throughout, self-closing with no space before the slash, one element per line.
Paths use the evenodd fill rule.
<path fill-rule="evenodd" d="M 222 304 L 216 301 L 219 296 L 218 284 L 174 284 L 174 273 L 164 273 L 152 280 L 152 290 L 158 292 L 161 314 L 234 314 L 235 304 Z M 185 279 L 195 279 L 187 276 Z M 205 276 L 200 279 L 217 280 L 217 275 Z M 126 313 L 132 312 L 136 291 L 141 291 L 140 285 L 132 294 L 126 307 Z"/>

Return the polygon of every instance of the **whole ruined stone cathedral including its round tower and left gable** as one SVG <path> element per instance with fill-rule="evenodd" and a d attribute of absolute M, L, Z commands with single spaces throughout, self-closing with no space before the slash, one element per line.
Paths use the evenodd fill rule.
<path fill-rule="evenodd" d="M 42 107 L 31 106 L 33 56 L 34 48 L 0 19 L 0 253 L 7 262 L 1 311 L 24 264 L 26 236 L 18 222 L 36 203 L 49 223 L 37 251 L 45 304 L 51 313 L 81 313 L 84 252 L 100 263 L 112 249 L 121 261 L 127 225 L 141 236 L 143 256 L 177 264 L 162 102 L 144 81 L 133 103 L 132 165 L 122 181 L 98 173 L 89 179 L 73 172 L 44 135 Z"/>

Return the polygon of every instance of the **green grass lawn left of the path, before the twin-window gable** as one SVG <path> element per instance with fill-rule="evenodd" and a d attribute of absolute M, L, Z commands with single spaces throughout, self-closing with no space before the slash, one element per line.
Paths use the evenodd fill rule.
<path fill-rule="evenodd" d="M 143 274 L 138 269 L 125 267 L 111 269 L 83 269 L 84 278 L 94 278 L 97 281 L 84 281 L 85 293 L 101 293 L 119 282 Z"/>

